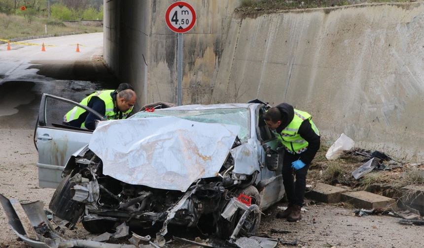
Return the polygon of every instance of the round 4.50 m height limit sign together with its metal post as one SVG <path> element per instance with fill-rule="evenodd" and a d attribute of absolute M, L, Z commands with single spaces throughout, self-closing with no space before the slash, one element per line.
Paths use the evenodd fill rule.
<path fill-rule="evenodd" d="M 196 22 L 193 7 L 182 1 L 171 4 L 166 10 L 165 21 L 172 31 L 178 33 L 177 48 L 177 105 L 182 105 L 182 34 L 191 30 Z"/>

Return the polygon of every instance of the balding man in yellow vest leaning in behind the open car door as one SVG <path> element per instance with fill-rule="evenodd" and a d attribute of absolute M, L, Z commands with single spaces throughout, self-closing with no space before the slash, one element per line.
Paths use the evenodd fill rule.
<path fill-rule="evenodd" d="M 128 84 L 121 84 L 118 90 L 104 90 L 90 94 L 82 99 L 81 105 L 87 106 L 103 115 L 107 120 L 125 119 L 133 110 L 137 95 Z M 94 130 L 99 118 L 83 108 L 75 106 L 64 116 L 64 124 Z"/>

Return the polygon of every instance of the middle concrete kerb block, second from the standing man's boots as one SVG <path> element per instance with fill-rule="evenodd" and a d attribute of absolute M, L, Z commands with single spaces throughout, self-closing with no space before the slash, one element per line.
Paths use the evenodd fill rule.
<path fill-rule="evenodd" d="M 342 201 L 352 203 L 355 207 L 363 209 L 393 208 L 393 210 L 397 210 L 394 199 L 367 191 L 342 193 Z"/>

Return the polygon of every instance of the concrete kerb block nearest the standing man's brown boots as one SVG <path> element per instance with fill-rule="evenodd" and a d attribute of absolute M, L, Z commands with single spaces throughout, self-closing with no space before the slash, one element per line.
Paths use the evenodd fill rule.
<path fill-rule="evenodd" d="M 338 203 L 341 201 L 341 194 L 347 191 L 345 188 L 317 183 L 311 191 L 305 192 L 305 196 L 315 201 Z"/>

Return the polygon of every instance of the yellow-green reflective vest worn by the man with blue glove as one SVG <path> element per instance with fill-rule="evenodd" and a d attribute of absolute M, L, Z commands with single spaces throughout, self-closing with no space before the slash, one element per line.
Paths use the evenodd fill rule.
<path fill-rule="evenodd" d="M 297 109 L 294 110 L 293 120 L 283 129 L 283 131 L 281 131 L 281 133 L 277 133 L 275 130 L 273 131 L 274 135 L 283 143 L 288 152 L 300 154 L 308 149 L 309 143 L 297 133 L 300 125 L 306 119 L 308 119 L 309 123 L 311 123 L 312 129 L 314 129 L 315 133 L 319 135 L 317 126 L 311 120 L 311 115 Z"/>

